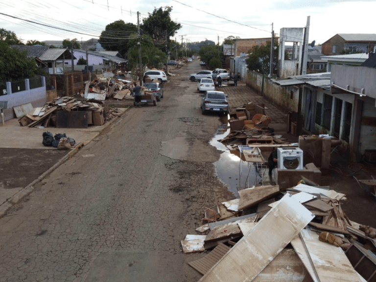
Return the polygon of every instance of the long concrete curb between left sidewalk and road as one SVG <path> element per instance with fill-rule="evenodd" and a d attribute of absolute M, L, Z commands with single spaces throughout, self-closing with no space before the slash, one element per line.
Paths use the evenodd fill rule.
<path fill-rule="evenodd" d="M 119 117 L 115 117 L 109 122 L 107 122 L 106 126 L 104 126 L 101 130 L 98 131 L 98 134 L 96 134 L 94 138 L 96 138 L 103 130 L 108 128 L 112 123 L 115 122 L 118 118 L 120 118 L 128 109 L 131 107 L 126 108 L 124 111 L 120 113 Z M 91 141 L 93 141 L 93 139 Z M 88 144 L 91 142 L 89 141 Z M 52 171 L 54 171 L 60 164 L 65 162 L 68 158 L 72 157 L 74 154 L 78 152 L 78 150 L 84 146 L 84 143 L 80 142 L 77 144 L 75 148 L 73 148 L 68 154 L 66 154 L 63 158 L 61 158 L 56 164 L 52 165 L 50 168 L 47 169 L 44 173 L 42 173 L 37 179 L 35 179 L 33 182 L 31 182 L 29 185 L 27 185 L 25 188 L 23 188 L 21 191 L 18 191 L 16 194 L 14 194 L 11 198 L 9 198 L 6 202 L 2 203 L 0 205 L 0 218 L 3 217 L 6 212 L 12 208 L 14 205 L 20 203 L 25 197 L 31 194 L 31 192 L 34 190 L 34 185 L 38 182 L 42 181 L 48 174 L 50 174 Z"/>

